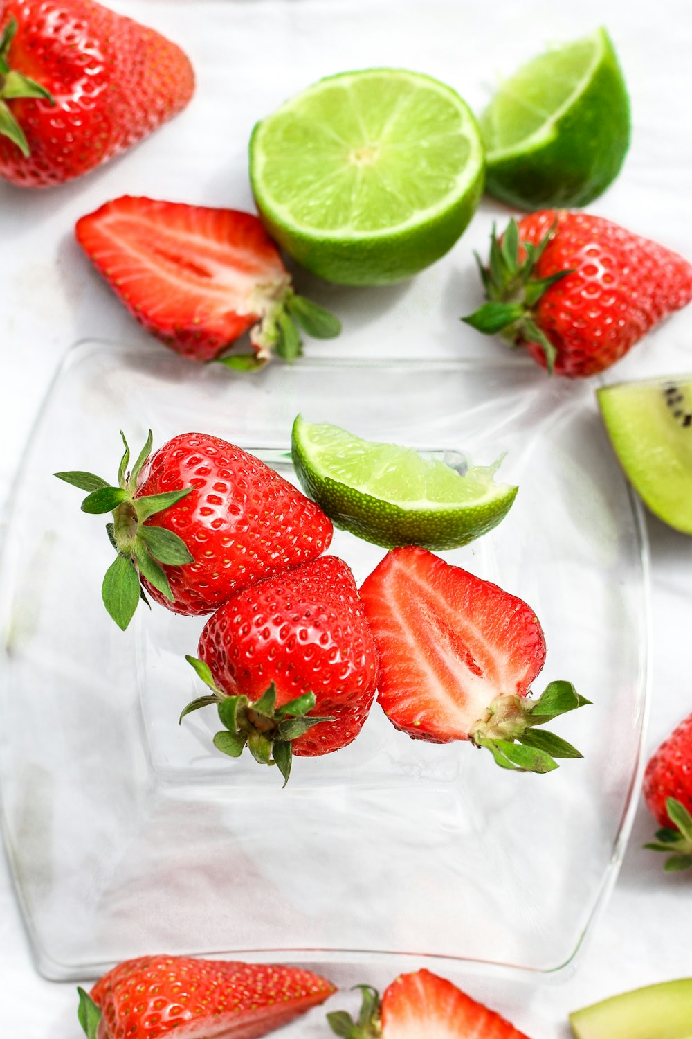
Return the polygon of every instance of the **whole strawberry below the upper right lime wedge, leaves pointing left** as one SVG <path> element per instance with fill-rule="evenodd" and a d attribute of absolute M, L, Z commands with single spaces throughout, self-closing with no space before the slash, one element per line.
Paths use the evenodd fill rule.
<path fill-rule="evenodd" d="M 502 239 L 493 230 L 478 266 L 489 301 L 464 321 L 571 377 L 608 368 L 692 299 L 687 260 L 581 212 L 531 213 Z"/>

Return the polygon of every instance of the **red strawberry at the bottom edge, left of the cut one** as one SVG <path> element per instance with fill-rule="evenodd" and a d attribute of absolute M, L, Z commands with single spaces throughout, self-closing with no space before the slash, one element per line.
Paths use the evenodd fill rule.
<path fill-rule="evenodd" d="M 334 991 L 300 967 L 142 956 L 79 989 L 79 1020 L 88 1039 L 256 1039 Z"/>

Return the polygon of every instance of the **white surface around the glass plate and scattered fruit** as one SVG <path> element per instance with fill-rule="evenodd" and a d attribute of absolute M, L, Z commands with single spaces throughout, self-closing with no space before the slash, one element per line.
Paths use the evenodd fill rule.
<path fill-rule="evenodd" d="M 79 255 L 72 238 L 75 219 L 126 192 L 251 208 L 244 155 L 252 123 L 323 74 L 376 63 L 417 68 L 450 82 L 479 107 L 496 70 L 509 71 L 545 41 L 605 24 L 631 88 L 633 142 L 620 178 L 590 209 L 690 255 L 688 0 L 664 0 L 655 10 L 626 0 L 582 0 L 578 10 L 548 0 L 496 0 L 492 10 L 467 0 L 431 0 L 421 6 L 389 0 L 367 5 L 351 0 L 122 0 L 114 6 L 186 44 L 198 72 L 197 95 L 174 123 L 81 182 L 37 193 L 0 185 L 3 496 L 52 373 L 71 343 L 86 336 L 145 342 Z M 307 31 L 297 34 L 299 24 Z M 498 344 L 481 341 L 456 319 L 477 299 L 471 251 L 485 250 L 492 220 L 503 216 L 500 207 L 483 203 L 451 254 L 406 286 L 369 294 L 316 287 L 320 298 L 344 317 L 347 332 L 334 344 L 309 349 L 334 356 L 345 351 L 497 356 Z M 299 283 L 315 289 L 300 275 Z M 692 308 L 637 346 L 609 377 L 683 371 L 692 371 Z M 647 526 L 654 618 L 651 751 L 692 710 L 692 539 L 652 518 Z M 475 977 L 469 990 L 534 1039 L 566 1039 L 570 1010 L 630 987 L 691 975 L 692 882 L 685 875 L 665 876 L 658 857 L 640 850 L 651 829 L 640 806 L 617 884 L 574 969 L 539 984 Z M 343 978 L 388 980 L 363 979 L 357 968 Z M 4 859 L 0 993 L 3 1024 L 13 1039 L 80 1034 L 74 985 L 47 982 L 34 971 Z M 335 1006 L 349 1001 L 343 996 Z M 285 1034 L 328 1033 L 317 1011 Z"/>

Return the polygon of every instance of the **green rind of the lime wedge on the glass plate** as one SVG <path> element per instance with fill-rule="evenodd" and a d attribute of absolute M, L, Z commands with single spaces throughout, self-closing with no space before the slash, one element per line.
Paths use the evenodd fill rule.
<path fill-rule="evenodd" d="M 358 456 L 364 458 L 365 469 L 368 468 L 368 448 L 382 456 L 389 447 L 394 457 L 403 455 L 406 458 L 407 455 L 416 455 L 421 469 L 430 468 L 435 472 L 435 468 L 441 465 L 446 470 L 443 480 L 448 481 L 448 486 L 446 491 L 438 497 L 444 498 L 445 494 L 450 497 L 449 484 L 458 481 L 461 502 L 430 499 L 424 502 L 420 499 L 404 502 L 402 501 L 404 495 L 400 492 L 396 495 L 398 501 L 392 501 L 377 497 L 375 492 L 368 492 L 362 483 L 360 486 L 354 486 L 352 483 L 334 479 L 329 475 L 324 457 L 321 457 L 320 437 L 325 430 L 343 432 L 342 456 L 348 458 L 349 451 L 356 452 Z M 298 416 L 294 423 L 292 454 L 301 486 L 324 509 L 330 520 L 341 530 L 386 549 L 402 544 L 418 544 L 434 552 L 444 552 L 468 544 L 492 530 L 504 518 L 518 490 L 516 486 L 508 484 L 495 485 L 492 468 L 488 471 L 472 468 L 471 472 L 474 474 L 472 479 L 475 480 L 479 492 L 475 498 L 469 499 L 466 478 L 439 461 L 427 462 L 415 452 L 362 441 L 326 423 L 313 426 L 305 422 L 301 416 Z M 481 477 L 483 472 L 488 473 L 485 480 Z M 406 476 L 403 476 L 403 481 L 406 481 Z M 377 485 L 378 480 L 373 479 L 372 482 Z M 370 487 L 370 490 L 375 489 Z"/>

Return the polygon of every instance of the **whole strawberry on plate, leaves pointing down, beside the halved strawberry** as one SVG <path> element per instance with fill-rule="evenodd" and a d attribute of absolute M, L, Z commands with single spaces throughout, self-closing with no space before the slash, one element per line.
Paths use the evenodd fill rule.
<path fill-rule="evenodd" d="M 345 747 L 375 696 L 375 644 L 353 574 L 335 556 L 233 595 L 207 620 L 198 651 L 188 660 L 212 696 L 183 714 L 216 703 L 228 729 L 215 738 L 219 750 L 238 756 L 247 743 L 285 780 L 292 746 L 303 757 Z"/>

